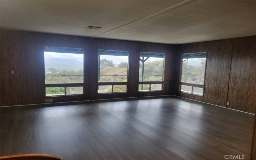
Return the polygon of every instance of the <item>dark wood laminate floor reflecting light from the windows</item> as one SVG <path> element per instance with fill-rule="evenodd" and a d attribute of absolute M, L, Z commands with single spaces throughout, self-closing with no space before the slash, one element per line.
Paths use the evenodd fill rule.
<path fill-rule="evenodd" d="M 67 159 L 249 158 L 253 115 L 165 97 L 1 108 L 1 156 Z"/>

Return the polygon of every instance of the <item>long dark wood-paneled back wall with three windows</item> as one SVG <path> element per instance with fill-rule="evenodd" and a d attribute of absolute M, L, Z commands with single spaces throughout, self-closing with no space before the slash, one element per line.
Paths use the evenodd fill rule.
<path fill-rule="evenodd" d="M 84 48 L 84 95 L 54 97 L 54 102 L 147 96 L 138 92 L 143 51 L 165 53 L 164 90 L 150 96 L 172 94 L 174 45 L 1 30 L 1 106 L 44 103 L 44 46 Z M 129 51 L 128 93 L 97 94 L 98 49 Z"/>

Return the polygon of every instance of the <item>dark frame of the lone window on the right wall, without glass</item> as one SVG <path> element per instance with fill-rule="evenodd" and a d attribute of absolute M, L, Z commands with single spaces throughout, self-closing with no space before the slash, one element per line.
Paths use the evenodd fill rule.
<path fill-rule="evenodd" d="M 195 83 L 189 83 L 189 82 L 181 82 L 181 77 L 182 77 L 182 65 L 183 65 L 183 55 L 184 54 L 188 54 L 188 53 L 206 53 L 206 60 L 205 60 L 205 68 L 204 68 L 204 84 L 195 84 Z M 185 93 L 185 94 L 191 94 L 191 95 L 195 95 L 195 96 L 199 96 L 199 97 L 204 97 L 204 91 L 205 91 L 205 77 L 206 77 L 206 69 L 207 69 L 207 59 L 208 59 L 208 52 L 186 52 L 186 53 L 181 53 L 180 56 L 180 80 L 179 80 L 179 92 L 181 93 Z M 181 91 L 181 85 L 187 85 L 187 86 L 192 86 L 192 90 L 191 93 L 188 92 L 183 92 Z M 199 95 L 199 94 L 194 94 L 193 93 L 193 87 L 199 87 L 199 88 L 203 88 L 203 95 Z"/>

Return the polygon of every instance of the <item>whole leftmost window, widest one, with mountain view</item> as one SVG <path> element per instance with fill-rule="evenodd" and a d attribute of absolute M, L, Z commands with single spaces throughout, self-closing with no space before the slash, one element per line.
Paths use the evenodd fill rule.
<path fill-rule="evenodd" d="M 83 94 L 84 49 L 44 47 L 44 75 L 45 96 Z"/>

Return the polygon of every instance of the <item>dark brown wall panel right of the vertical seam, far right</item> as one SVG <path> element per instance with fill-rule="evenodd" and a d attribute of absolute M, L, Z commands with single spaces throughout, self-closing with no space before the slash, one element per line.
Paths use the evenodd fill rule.
<path fill-rule="evenodd" d="M 255 113 L 256 36 L 235 39 L 233 46 L 228 108 Z"/>

